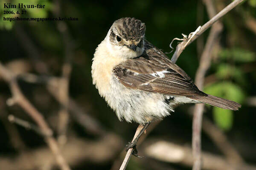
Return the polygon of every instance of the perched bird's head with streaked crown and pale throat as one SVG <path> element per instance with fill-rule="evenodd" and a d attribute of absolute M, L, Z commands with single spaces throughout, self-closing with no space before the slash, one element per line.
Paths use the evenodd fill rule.
<path fill-rule="evenodd" d="M 116 20 L 108 32 L 108 48 L 118 57 L 138 57 L 144 51 L 145 30 L 145 23 L 135 18 Z"/>

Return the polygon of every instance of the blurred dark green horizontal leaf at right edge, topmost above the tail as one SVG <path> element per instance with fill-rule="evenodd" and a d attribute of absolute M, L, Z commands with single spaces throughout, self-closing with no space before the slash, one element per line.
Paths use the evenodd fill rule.
<path fill-rule="evenodd" d="M 255 53 L 241 48 L 224 49 L 219 55 L 222 59 L 233 59 L 236 62 L 252 62 L 256 59 Z"/>

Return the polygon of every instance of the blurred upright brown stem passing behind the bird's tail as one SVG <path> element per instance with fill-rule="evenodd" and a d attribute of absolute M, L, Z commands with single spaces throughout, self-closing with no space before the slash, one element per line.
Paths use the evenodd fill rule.
<path fill-rule="evenodd" d="M 215 8 L 212 4 L 212 0 L 204 0 L 204 3 L 207 6 L 207 12 L 209 17 L 215 15 Z M 195 76 L 195 84 L 199 89 L 203 88 L 204 77 L 206 71 L 208 70 L 211 62 L 211 53 L 212 47 L 217 42 L 217 37 L 222 31 L 222 25 L 220 22 L 215 23 L 210 30 L 209 37 L 202 53 L 200 64 Z M 192 153 L 194 156 L 194 165 L 193 170 L 201 169 L 201 125 L 202 125 L 202 116 L 204 111 L 204 104 L 196 104 L 193 116 L 193 133 L 192 133 Z"/>

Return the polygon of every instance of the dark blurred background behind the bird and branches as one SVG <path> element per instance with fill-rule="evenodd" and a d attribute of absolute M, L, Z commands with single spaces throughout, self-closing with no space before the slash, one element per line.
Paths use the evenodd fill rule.
<path fill-rule="evenodd" d="M 45 4 L 46 8 L 29 9 L 26 15 L 20 17 L 77 17 L 79 20 L 64 21 L 63 25 L 60 21 L 9 22 L 1 19 L 0 62 L 19 75 L 18 82 L 23 94 L 43 113 L 57 139 L 59 135 L 58 125 L 61 121 L 59 110 L 62 106 L 47 90 L 49 82 L 44 78 L 61 77 L 63 65 L 69 63 L 72 66 L 69 77 L 69 96 L 83 111 L 80 116 L 86 114 L 92 117 L 100 127 L 91 125 L 91 129 L 88 128 L 90 125 L 83 125 L 81 123 L 83 121 L 79 121 L 83 119 L 79 115 L 74 116 L 70 111 L 66 125 L 67 131 L 64 134 L 67 144 L 73 139 L 79 139 L 89 143 L 85 145 L 87 147 L 80 148 L 84 154 L 89 152 L 88 150 L 92 150 L 90 152 L 97 153 L 96 155 L 99 157 L 101 157 L 100 155 L 108 155 L 108 152 L 110 156 L 100 159 L 97 156 L 90 156 L 92 154 L 89 156 L 81 154 L 81 156 L 78 155 L 74 160 L 68 162 L 74 170 L 107 170 L 111 169 L 113 162 L 117 162 L 116 164 L 119 166 L 118 160 L 122 160 L 124 157 L 124 154 L 120 153 L 125 147 L 125 143 L 132 139 L 137 124 L 119 122 L 115 113 L 92 85 L 90 71 L 95 48 L 105 38 L 108 29 L 115 20 L 121 17 L 135 17 L 146 24 L 146 39 L 164 52 L 169 52 L 171 51 L 169 44 L 173 38 L 182 38 L 182 33 L 188 35 L 195 31 L 199 25 L 203 25 L 209 20 L 204 3 L 201 0 L 115 0 L 104 2 L 96 0 L 61 2 L 11 0 L 7 3 L 30 4 L 31 2 L 33 4 Z M 220 11 L 230 2 L 230 0 L 215 0 L 215 8 Z M 2 5 L 4 2 L 0 3 Z M 57 8 L 58 6 L 59 8 Z M 205 81 L 207 93 L 241 103 L 241 109 L 234 112 L 206 107 L 204 117 L 210 120 L 214 127 L 218 127 L 218 131 L 224 133 L 244 162 L 248 164 L 256 164 L 255 7 L 256 1 L 248 0 L 221 18 L 224 29 L 221 32 L 219 43 L 215 45 L 212 52 L 212 64 Z M 2 15 L 3 8 L 0 10 L 2 10 Z M 64 32 L 60 31 L 62 27 Z M 189 45 L 177 60 L 177 65 L 183 68 L 192 79 L 195 78 L 198 59 L 208 33 L 209 30 L 201 35 L 198 39 L 199 42 L 195 41 Z M 175 45 L 177 45 L 177 41 L 174 42 L 173 46 Z M 167 55 L 171 58 L 172 54 Z M 44 71 L 44 67 L 38 66 L 38 63 L 41 62 L 47 65 L 48 71 Z M 36 82 L 26 81 L 22 75 L 27 75 L 27 73 L 38 75 L 39 80 Z M 8 115 L 14 115 L 35 125 L 35 122 L 18 105 L 11 107 L 6 105 L 6 100 L 10 97 L 9 86 L 0 77 L 0 169 L 4 170 L 12 169 L 12 164 L 9 165 L 6 160 L 12 160 L 15 164 L 23 154 L 29 155 L 47 147 L 44 137 L 40 134 L 9 122 Z M 175 113 L 151 128 L 152 131 L 148 133 L 142 147 L 138 147 L 139 155 L 145 156 L 145 158 L 133 157 L 127 169 L 191 169 L 190 165 L 183 162 L 173 163 L 151 158 L 143 150 L 154 140 L 165 140 L 191 147 L 192 116 L 190 114 L 193 107 L 194 105 L 181 105 L 176 108 Z M 85 119 L 88 120 L 89 118 Z M 93 130 L 94 128 L 97 130 Z M 115 149 L 113 151 L 111 147 L 107 147 L 109 150 L 104 150 L 105 147 L 95 149 L 90 145 L 104 141 L 104 137 L 110 134 L 112 135 L 110 140 L 114 141 L 113 147 Z M 65 148 L 65 144 L 63 148 Z M 204 131 L 202 133 L 202 150 L 223 156 L 226 159 L 212 137 L 209 137 Z M 53 159 L 47 156 L 42 156 L 42 158 Z M 44 166 L 40 163 L 40 167 L 34 166 L 36 164 L 34 159 L 37 159 L 35 155 L 31 158 L 28 157 L 26 161 L 23 161 L 24 166 L 20 168 L 43 169 Z M 29 164 L 32 165 L 29 166 Z M 214 169 L 214 167 L 212 168 Z M 58 167 L 53 161 L 52 164 L 49 164 L 48 169 L 58 169 Z"/>

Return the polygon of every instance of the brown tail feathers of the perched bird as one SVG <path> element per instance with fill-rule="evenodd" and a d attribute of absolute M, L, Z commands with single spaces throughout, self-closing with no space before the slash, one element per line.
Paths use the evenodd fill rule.
<path fill-rule="evenodd" d="M 198 100 L 203 103 L 207 103 L 212 106 L 217 106 L 219 108 L 224 108 L 224 109 L 230 109 L 233 111 L 237 111 L 238 108 L 241 107 L 241 105 L 237 102 L 233 102 L 231 100 L 227 99 L 222 99 L 220 97 L 212 96 L 212 95 L 207 95 L 207 96 L 187 96 L 190 99 Z"/>

